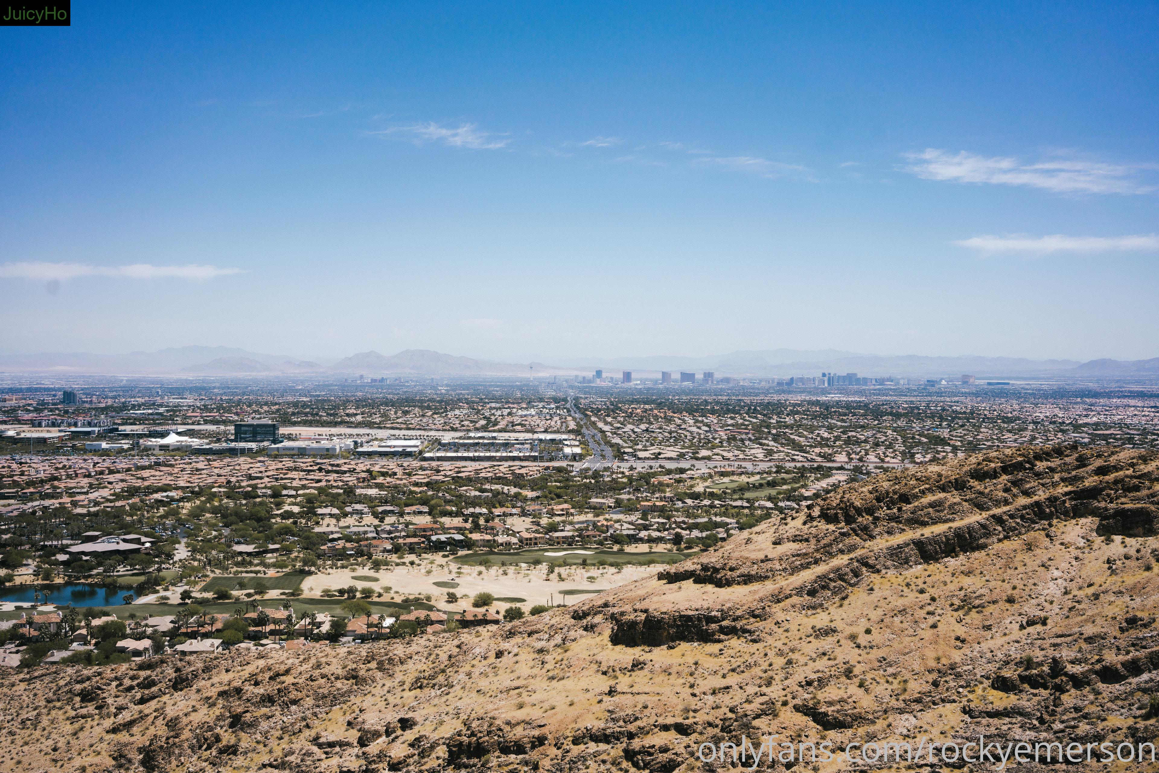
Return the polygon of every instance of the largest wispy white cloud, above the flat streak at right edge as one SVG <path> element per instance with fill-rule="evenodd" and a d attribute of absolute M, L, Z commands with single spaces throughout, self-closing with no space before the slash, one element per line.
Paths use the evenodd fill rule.
<path fill-rule="evenodd" d="M 961 183 L 991 183 L 997 185 L 1028 185 L 1056 194 L 1149 194 L 1154 185 L 1146 184 L 1142 174 L 1152 165 L 1113 165 L 1056 158 L 1023 163 L 1013 158 L 987 158 L 962 151 L 927 148 L 907 153 L 906 172 L 925 180 Z"/>

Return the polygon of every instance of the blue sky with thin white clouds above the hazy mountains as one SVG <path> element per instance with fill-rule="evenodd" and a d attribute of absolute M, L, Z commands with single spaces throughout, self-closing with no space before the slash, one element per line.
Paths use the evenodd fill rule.
<path fill-rule="evenodd" d="M 559 5 L 0 28 L 0 350 L 1159 356 L 1159 6 Z"/>

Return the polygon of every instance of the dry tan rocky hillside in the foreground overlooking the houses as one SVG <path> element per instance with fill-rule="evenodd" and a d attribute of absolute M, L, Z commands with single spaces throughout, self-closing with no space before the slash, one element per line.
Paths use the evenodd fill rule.
<path fill-rule="evenodd" d="M 1139 451 L 1003 451 L 497 629 L 7 673 L 0 768 L 691 771 L 714 767 L 704 742 L 772 732 L 1152 741 L 1157 480 Z"/>

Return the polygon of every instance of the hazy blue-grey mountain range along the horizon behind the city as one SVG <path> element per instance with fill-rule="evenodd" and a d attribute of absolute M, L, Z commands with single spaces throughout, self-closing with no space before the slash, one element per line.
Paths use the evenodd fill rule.
<path fill-rule="evenodd" d="M 287 355 L 265 355 L 228 347 L 180 347 L 127 355 L 38 353 L 0 356 L 0 372 L 107 374 L 107 375 L 567 375 L 604 370 L 607 375 L 632 371 L 635 378 L 653 378 L 662 370 L 712 371 L 717 377 L 773 378 L 815 375 L 822 372 L 903 378 L 953 378 L 963 373 L 979 380 L 1009 378 L 1146 378 L 1159 375 L 1159 358 L 1121 362 L 1094 359 L 1025 359 L 1016 357 L 925 357 L 918 355 L 862 355 L 837 349 L 768 349 L 732 351 L 707 357 L 647 356 L 571 358 L 554 364 L 498 363 L 445 355 L 429 349 L 407 349 L 396 355 L 364 351 L 338 359 L 313 362 Z"/>

